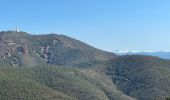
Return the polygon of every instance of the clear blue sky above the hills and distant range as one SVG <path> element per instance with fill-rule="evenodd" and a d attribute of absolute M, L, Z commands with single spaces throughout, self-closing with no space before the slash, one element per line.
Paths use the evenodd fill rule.
<path fill-rule="evenodd" d="M 16 24 L 107 51 L 170 50 L 170 0 L 0 0 L 0 31 Z"/>

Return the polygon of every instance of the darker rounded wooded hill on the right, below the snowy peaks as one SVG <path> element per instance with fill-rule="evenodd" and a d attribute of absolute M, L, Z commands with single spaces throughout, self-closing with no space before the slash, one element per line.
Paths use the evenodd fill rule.
<path fill-rule="evenodd" d="M 170 60 L 121 56 L 108 63 L 106 73 L 123 93 L 140 100 L 164 100 L 170 94 Z"/>

